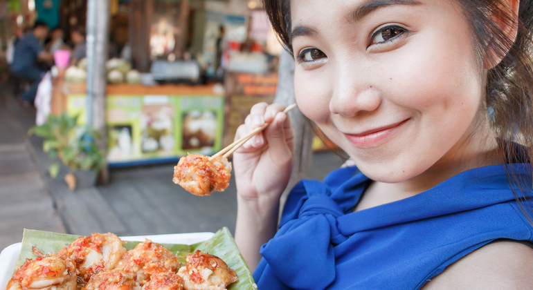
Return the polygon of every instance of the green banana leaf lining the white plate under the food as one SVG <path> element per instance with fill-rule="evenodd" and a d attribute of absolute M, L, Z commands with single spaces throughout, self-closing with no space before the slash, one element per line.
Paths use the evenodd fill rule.
<path fill-rule="evenodd" d="M 22 249 L 20 251 L 19 260 L 15 269 L 18 269 L 26 258 L 35 258 L 31 253 L 31 248 L 36 246 L 39 251 L 43 253 L 56 253 L 63 247 L 73 242 L 79 235 L 69 235 L 66 233 L 52 233 L 49 231 L 35 231 L 24 229 L 24 236 L 22 238 Z M 129 251 L 133 249 L 139 242 L 126 242 L 124 247 Z M 237 244 L 233 240 L 228 228 L 219 229 L 213 237 L 205 242 L 197 244 L 162 244 L 164 247 L 172 251 L 179 258 L 179 261 L 185 263 L 187 255 L 200 250 L 204 253 L 216 255 L 237 273 L 239 281 L 231 284 L 228 290 L 256 290 L 257 285 L 253 281 L 252 273 L 244 262 L 244 258 L 237 248 Z"/>

